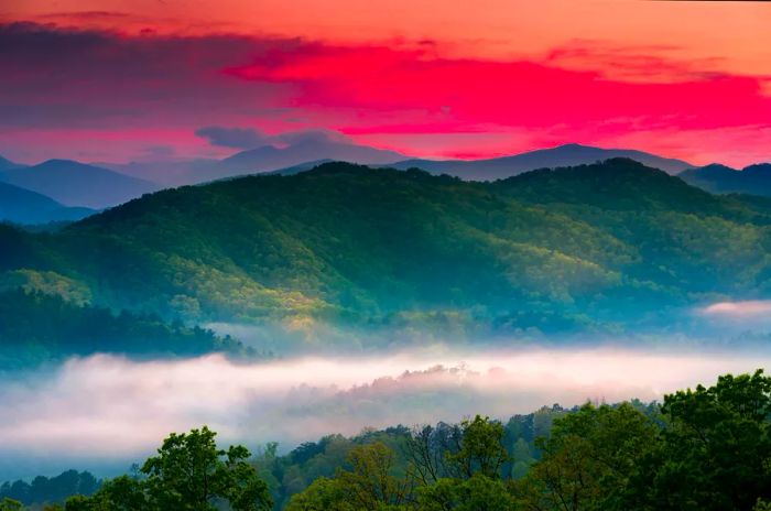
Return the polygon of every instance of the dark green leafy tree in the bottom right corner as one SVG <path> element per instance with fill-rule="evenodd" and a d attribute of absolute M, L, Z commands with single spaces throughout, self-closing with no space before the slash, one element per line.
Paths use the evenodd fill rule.
<path fill-rule="evenodd" d="M 662 445 L 641 464 L 638 509 L 748 510 L 771 498 L 771 378 L 718 378 L 664 398 Z"/>

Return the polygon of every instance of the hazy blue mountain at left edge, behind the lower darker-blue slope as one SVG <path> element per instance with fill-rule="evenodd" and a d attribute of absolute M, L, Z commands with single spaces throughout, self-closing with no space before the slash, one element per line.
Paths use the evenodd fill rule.
<path fill-rule="evenodd" d="M 94 209 L 116 206 L 158 189 L 150 182 L 70 160 L 48 160 L 4 171 L 0 173 L 0 181 L 46 195 L 66 206 Z"/>

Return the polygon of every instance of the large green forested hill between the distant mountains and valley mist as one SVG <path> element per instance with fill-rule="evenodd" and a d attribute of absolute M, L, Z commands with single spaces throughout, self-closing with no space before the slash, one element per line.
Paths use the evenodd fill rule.
<path fill-rule="evenodd" d="M 601 330 L 763 296 L 769 226 L 771 202 L 629 160 L 496 183 L 327 163 L 160 192 L 54 235 L 2 229 L 0 270 L 197 322 Z"/>

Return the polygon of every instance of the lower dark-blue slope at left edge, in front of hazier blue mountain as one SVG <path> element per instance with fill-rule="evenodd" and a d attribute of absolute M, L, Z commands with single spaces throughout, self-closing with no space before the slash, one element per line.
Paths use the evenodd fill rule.
<path fill-rule="evenodd" d="M 45 195 L 0 183 L 0 221 L 47 224 L 80 220 L 94 213 L 88 208 L 69 208 Z"/>

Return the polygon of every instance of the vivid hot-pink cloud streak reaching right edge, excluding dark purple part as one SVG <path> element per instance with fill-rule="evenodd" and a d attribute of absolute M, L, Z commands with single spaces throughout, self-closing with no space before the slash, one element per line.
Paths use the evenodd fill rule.
<path fill-rule="evenodd" d="M 667 72 L 675 63 L 661 63 Z M 653 63 L 651 63 L 653 66 Z M 480 123 L 507 127 L 585 126 L 619 120 L 632 124 L 704 129 L 765 122 L 771 98 L 760 77 L 694 75 L 677 81 L 606 77 L 601 69 L 568 69 L 549 62 L 450 59 L 421 50 L 312 46 L 276 50 L 226 73 L 258 83 L 294 84 L 287 106 L 354 109 L 376 121 L 405 111 L 395 126 L 436 131 Z M 607 127 L 607 124 L 606 124 Z M 359 132 L 362 128 L 357 128 Z"/>

